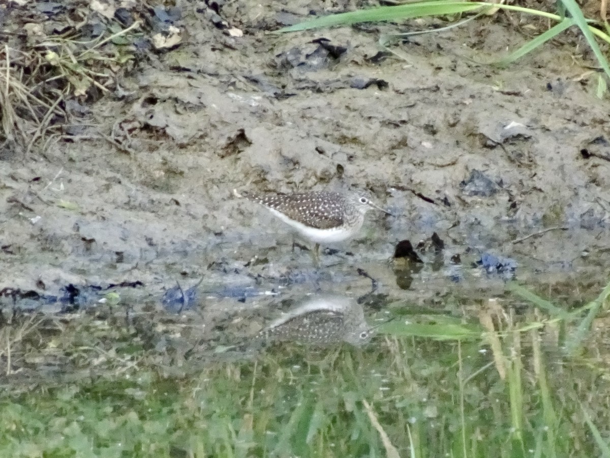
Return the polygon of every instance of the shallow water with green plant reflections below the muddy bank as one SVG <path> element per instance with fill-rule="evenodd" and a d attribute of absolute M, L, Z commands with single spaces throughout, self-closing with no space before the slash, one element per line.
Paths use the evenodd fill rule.
<path fill-rule="evenodd" d="M 309 253 L 291 256 L 305 263 Z M 69 312 L 11 315 L 4 304 L 2 423 L 23 432 L 10 443 L 4 435 L 3 449 L 565 456 L 576 441 L 577 456 L 596 453 L 592 428 L 608 412 L 603 323 L 567 354 L 565 332 L 584 311 L 569 320 L 536 308 L 469 261 L 458 275 L 428 261 L 412 269 L 337 256 L 318 268 L 231 269 L 215 286 L 181 280 L 197 297 L 180 313 L 163 307 L 162 291 L 131 285 L 117 302 Z M 515 278 L 536 278 L 569 310 L 601 286 L 594 256 L 585 259 L 594 265 L 581 272 L 519 260 Z M 281 341 L 260 340 L 322 291 L 359 304 L 375 328 L 369 343 L 300 343 L 303 321 Z M 49 445 L 53 435 L 61 439 Z"/>

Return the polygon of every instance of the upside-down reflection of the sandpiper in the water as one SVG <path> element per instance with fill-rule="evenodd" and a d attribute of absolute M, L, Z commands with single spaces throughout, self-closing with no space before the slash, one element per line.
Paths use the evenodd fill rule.
<path fill-rule="evenodd" d="M 320 296 L 271 322 L 259 337 L 321 345 L 341 342 L 362 345 L 371 340 L 372 333 L 364 310 L 355 299 Z"/>

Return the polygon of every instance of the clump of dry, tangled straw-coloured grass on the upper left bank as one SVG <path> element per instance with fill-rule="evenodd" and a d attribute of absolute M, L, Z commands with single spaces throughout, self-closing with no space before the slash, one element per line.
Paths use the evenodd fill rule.
<path fill-rule="evenodd" d="M 46 36 L 40 25 L 28 25 L 26 44 L 13 39 L 0 48 L 0 141 L 26 157 L 34 145 L 44 150 L 51 137 L 79 133 L 82 122 L 74 118 L 82 114 L 81 103 L 109 92 L 134 58 L 109 43 L 139 23 L 94 40 L 75 32 Z"/>

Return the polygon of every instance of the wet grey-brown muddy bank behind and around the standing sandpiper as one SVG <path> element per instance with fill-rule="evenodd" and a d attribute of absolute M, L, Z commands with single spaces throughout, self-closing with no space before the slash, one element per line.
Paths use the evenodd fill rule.
<path fill-rule="evenodd" d="M 585 62 L 572 64 L 568 45 L 542 48 L 535 66 L 479 64 L 498 37 L 524 39 L 488 21 L 401 43 L 408 62 L 377 60 L 371 32 L 400 27 L 271 35 L 279 5 L 251 6 L 223 10 L 242 37 L 185 8 L 188 40 L 126 71 L 128 96 L 91 105 L 82 139 L 0 162 L 2 287 L 140 281 L 160 297 L 176 280 L 220 290 L 226 272 L 273 283 L 303 271 L 314 272 L 311 288 L 340 275 L 349 290 L 362 268 L 404 297 L 393 249 L 434 232 L 447 252 L 441 269 L 414 274 L 419 294 L 431 294 L 429 278 L 449 288 L 456 253 L 475 283 L 470 265 L 486 252 L 515 259 L 517 280 L 552 286 L 597 272 L 592 283 L 603 283 L 607 104 L 574 81 Z M 369 215 L 358 238 L 331 247 L 331 275 L 292 249 L 280 222 L 231 195 L 337 187 L 369 189 L 395 216 Z"/>

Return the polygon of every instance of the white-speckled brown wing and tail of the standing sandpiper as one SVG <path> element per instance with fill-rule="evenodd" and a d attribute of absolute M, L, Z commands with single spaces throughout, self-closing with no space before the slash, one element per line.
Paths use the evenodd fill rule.
<path fill-rule="evenodd" d="M 337 192 L 303 194 L 243 194 L 253 202 L 281 211 L 292 220 L 316 229 L 331 229 L 343 224 L 345 199 Z"/>

